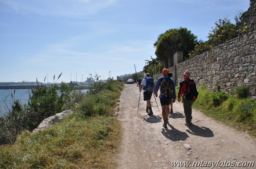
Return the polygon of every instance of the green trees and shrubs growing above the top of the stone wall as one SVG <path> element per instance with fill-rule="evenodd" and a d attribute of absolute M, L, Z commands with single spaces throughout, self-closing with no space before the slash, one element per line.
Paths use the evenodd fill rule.
<path fill-rule="evenodd" d="M 155 75 L 161 73 L 163 68 L 169 66 L 169 58 L 176 52 L 183 52 L 183 61 L 200 55 L 212 48 L 249 32 L 248 23 L 242 22 L 247 11 L 238 11 L 235 16 L 235 24 L 228 17 L 219 19 L 208 33 L 208 40 L 197 39 L 186 27 L 172 28 L 161 33 L 154 43 L 156 58 L 145 60 L 144 73 Z M 160 69 L 159 69 L 160 68 Z"/>

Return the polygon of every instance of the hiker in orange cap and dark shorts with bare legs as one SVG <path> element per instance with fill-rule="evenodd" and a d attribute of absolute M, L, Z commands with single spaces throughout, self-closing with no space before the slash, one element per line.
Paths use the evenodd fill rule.
<path fill-rule="evenodd" d="M 175 93 L 175 85 L 174 80 L 168 77 L 168 69 L 163 69 L 162 73 L 163 76 L 158 78 L 156 81 L 156 85 L 154 88 L 155 97 L 158 96 L 157 92 L 160 87 L 160 103 L 162 107 L 162 117 L 163 117 L 163 127 L 167 128 L 167 123 L 169 123 L 169 105 L 170 103 L 174 103 L 176 100 L 176 93 Z"/>

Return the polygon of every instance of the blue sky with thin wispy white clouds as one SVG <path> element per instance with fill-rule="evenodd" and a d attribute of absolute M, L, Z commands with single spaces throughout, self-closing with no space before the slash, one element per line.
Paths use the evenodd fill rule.
<path fill-rule="evenodd" d="M 81 81 L 141 71 L 159 34 L 186 27 L 208 40 L 249 0 L 0 0 L 0 82 Z M 135 66 L 134 66 L 135 64 Z M 71 75 L 72 74 L 72 75 Z"/>

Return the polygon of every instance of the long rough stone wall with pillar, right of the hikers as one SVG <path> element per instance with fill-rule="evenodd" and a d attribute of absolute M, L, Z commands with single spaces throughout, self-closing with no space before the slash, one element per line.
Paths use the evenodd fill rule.
<path fill-rule="evenodd" d="M 174 55 L 174 65 L 168 70 L 173 73 L 175 84 L 183 80 L 182 74 L 188 70 L 197 86 L 205 84 L 208 89 L 232 94 L 235 86 L 249 87 L 250 94 L 256 96 L 256 0 L 250 1 L 250 32 L 227 41 L 210 51 L 181 62 L 182 52 Z M 154 75 L 154 78 L 162 74 Z"/>

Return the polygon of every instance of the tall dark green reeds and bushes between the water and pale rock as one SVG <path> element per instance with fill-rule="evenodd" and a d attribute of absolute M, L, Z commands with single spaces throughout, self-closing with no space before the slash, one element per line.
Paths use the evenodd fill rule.
<path fill-rule="evenodd" d="M 37 85 L 31 89 L 28 104 L 17 99 L 11 110 L 0 118 L 0 144 L 11 144 L 22 130 L 32 131 L 47 117 L 72 107 L 72 86 L 61 83 L 60 87 Z"/>

